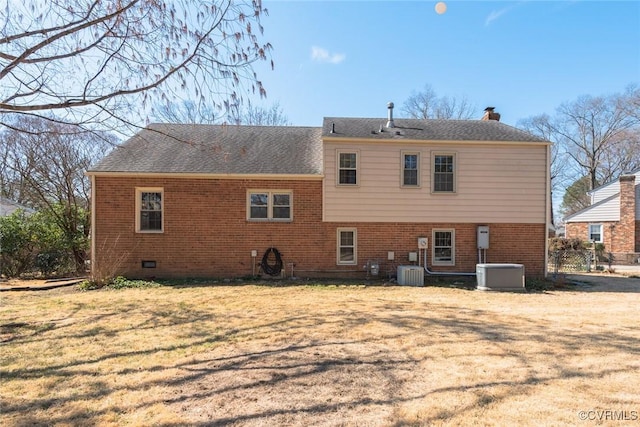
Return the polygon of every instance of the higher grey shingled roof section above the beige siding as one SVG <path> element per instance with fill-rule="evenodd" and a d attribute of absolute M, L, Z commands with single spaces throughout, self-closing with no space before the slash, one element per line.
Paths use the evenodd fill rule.
<path fill-rule="evenodd" d="M 394 119 L 393 122 L 395 126 L 387 128 L 387 119 L 325 117 L 322 137 L 418 141 L 549 142 L 496 120 Z"/>

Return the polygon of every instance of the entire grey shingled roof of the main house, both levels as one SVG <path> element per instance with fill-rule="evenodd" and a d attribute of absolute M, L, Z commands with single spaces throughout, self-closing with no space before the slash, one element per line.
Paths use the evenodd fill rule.
<path fill-rule="evenodd" d="M 549 143 L 495 120 L 327 117 L 323 127 L 151 124 L 89 170 L 94 173 L 323 175 L 322 140 Z"/>

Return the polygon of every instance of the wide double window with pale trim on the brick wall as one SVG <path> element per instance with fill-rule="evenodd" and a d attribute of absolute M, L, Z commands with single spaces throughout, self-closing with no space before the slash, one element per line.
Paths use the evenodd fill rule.
<path fill-rule="evenodd" d="M 247 219 L 252 221 L 291 221 L 291 191 L 250 190 L 247 192 Z"/>

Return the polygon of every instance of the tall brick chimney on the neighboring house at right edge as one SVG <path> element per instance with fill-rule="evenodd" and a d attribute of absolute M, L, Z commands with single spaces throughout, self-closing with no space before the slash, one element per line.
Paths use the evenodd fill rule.
<path fill-rule="evenodd" d="M 616 252 L 634 253 L 636 248 L 636 177 L 620 176 L 620 222 L 615 230 Z"/>

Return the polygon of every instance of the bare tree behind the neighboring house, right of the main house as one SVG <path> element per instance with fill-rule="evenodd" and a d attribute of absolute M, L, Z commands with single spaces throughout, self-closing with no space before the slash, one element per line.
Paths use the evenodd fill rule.
<path fill-rule="evenodd" d="M 552 191 L 565 189 L 561 206 L 565 215 L 588 204 L 586 191 L 640 168 L 637 86 L 629 86 L 623 94 L 579 97 L 562 104 L 554 116 L 524 119 L 518 127 L 554 142 Z"/>

